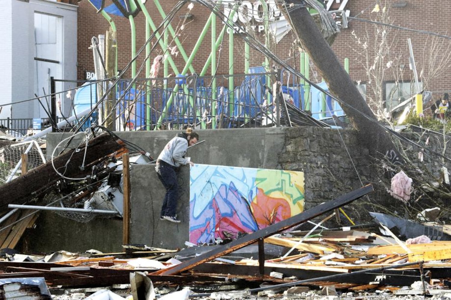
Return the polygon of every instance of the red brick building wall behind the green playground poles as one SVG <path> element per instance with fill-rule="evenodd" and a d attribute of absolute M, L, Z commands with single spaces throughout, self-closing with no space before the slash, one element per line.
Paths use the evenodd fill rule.
<path fill-rule="evenodd" d="M 245 1 L 246 2 L 246 1 Z M 351 78 L 361 84 L 365 84 L 367 99 L 372 98 L 374 87 L 379 87 L 385 99 L 395 99 L 395 103 L 405 99 L 410 90 L 415 92 L 414 73 L 409 68 L 409 47 L 407 39 L 410 38 L 413 46 L 414 59 L 419 74 L 419 81 L 426 90 L 432 91 L 434 98 L 444 92 L 451 91 L 451 74 L 448 71 L 451 65 L 451 42 L 447 37 L 434 36 L 432 33 L 446 36 L 447 28 L 450 28 L 449 18 L 451 8 L 445 1 L 421 1 L 421 0 L 327 0 L 327 4 L 334 3 L 331 9 L 344 5 L 349 10 L 348 28 L 344 28 L 336 37 L 332 49 L 340 61 L 349 59 L 349 73 Z M 330 2 L 330 3 L 329 3 Z M 106 0 L 106 4 L 110 4 Z M 160 1 L 166 13 L 176 4 L 176 1 Z M 376 4 L 378 3 L 378 9 Z M 84 78 L 85 71 L 94 70 L 92 50 L 88 49 L 91 37 L 105 34 L 109 23 L 87 1 L 78 2 L 78 79 Z M 342 6 L 343 6 L 342 5 Z M 145 6 L 156 26 L 162 21 L 161 15 L 156 9 L 154 1 L 147 0 Z M 385 8 L 384 8 L 385 7 Z M 192 18 L 183 22 L 186 13 Z M 189 55 L 196 43 L 202 28 L 205 26 L 210 11 L 200 4 L 194 4 L 192 10 L 188 9 L 188 3 L 175 15 L 172 21 L 174 28 L 179 28 L 179 40 Z M 355 17 L 355 18 L 352 18 Z M 128 18 L 112 16 L 117 27 L 118 41 L 118 68 L 122 69 L 131 59 L 130 22 Z M 364 22 L 356 18 L 375 21 Z M 136 25 L 137 49 L 145 42 L 145 17 L 142 12 L 134 18 Z M 381 23 L 385 23 L 386 26 Z M 180 30 L 180 26 L 184 29 Z M 216 25 L 217 35 L 223 24 L 218 19 Z M 257 32 L 256 36 L 264 41 L 264 34 Z M 155 40 L 155 39 L 154 39 Z M 384 40 L 384 42 L 382 42 Z M 295 34 L 290 31 L 278 44 L 271 45 L 273 53 L 286 60 L 299 70 L 299 50 L 294 43 Z M 155 42 L 155 41 L 154 41 Z M 171 44 L 175 45 L 175 44 Z M 244 72 L 244 43 L 239 36 L 235 36 L 234 44 L 234 72 Z M 196 72 L 200 72 L 211 52 L 210 30 L 202 43 L 200 51 L 193 61 Z M 227 34 L 224 36 L 221 51 L 216 54 L 219 60 L 218 74 L 229 72 L 229 41 Z M 152 53 L 153 59 L 161 54 L 161 48 L 157 47 Z M 143 62 L 144 54 L 137 60 L 139 67 Z M 181 70 L 184 61 L 181 55 L 172 55 L 176 65 Z M 376 61 L 376 63 L 375 63 Z M 251 49 L 250 66 L 260 66 L 264 57 Z M 321 81 L 321 75 L 315 71 L 311 64 L 310 79 L 314 82 Z M 374 66 L 373 66 L 374 65 Z M 371 68 L 373 66 L 373 68 Z M 368 71 L 368 68 L 371 68 Z M 368 77 L 369 73 L 374 76 Z M 209 75 L 210 72 L 207 72 Z M 172 74 L 174 76 L 175 74 Z M 145 77 L 145 73 L 139 77 Z M 393 89 L 399 83 L 399 89 Z M 405 90 L 402 92 L 402 90 Z M 390 95 L 390 91 L 396 90 Z"/>

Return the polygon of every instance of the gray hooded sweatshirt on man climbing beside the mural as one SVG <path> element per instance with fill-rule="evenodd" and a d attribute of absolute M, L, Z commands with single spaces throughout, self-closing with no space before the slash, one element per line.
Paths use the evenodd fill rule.
<path fill-rule="evenodd" d="M 166 144 L 165 148 L 158 156 L 158 160 L 165 161 L 175 167 L 189 163 L 185 158 L 186 151 L 188 150 L 187 136 L 188 134 L 184 133 L 177 134 Z"/>

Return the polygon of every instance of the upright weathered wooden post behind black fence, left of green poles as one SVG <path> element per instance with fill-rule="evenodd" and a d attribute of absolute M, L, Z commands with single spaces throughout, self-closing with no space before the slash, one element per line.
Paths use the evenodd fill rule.
<path fill-rule="evenodd" d="M 106 31 L 106 39 L 105 39 L 105 61 L 106 61 L 106 77 L 113 78 L 116 76 L 116 31 L 113 31 L 110 27 L 109 31 Z M 108 94 L 105 109 L 104 109 L 104 119 L 105 119 L 105 127 L 109 130 L 115 130 L 115 103 L 116 99 L 116 90 L 113 89 Z"/>

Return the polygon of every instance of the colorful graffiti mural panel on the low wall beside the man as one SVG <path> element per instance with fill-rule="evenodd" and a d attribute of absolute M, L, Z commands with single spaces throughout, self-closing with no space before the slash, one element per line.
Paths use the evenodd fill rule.
<path fill-rule="evenodd" d="M 304 210 L 304 172 L 196 164 L 189 191 L 196 244 L 235 239 Z"/>

